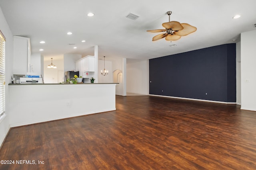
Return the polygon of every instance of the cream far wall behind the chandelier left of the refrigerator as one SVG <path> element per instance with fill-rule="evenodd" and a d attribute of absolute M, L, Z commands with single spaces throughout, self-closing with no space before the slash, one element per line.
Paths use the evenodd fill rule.
<path fill-rule="evenodd" d="M 57 68 L 47 68 L 51 62 Z M 44 56 L 44 83 L 58 83 L 58 71 L 64 71 L 63 55 Z"/>

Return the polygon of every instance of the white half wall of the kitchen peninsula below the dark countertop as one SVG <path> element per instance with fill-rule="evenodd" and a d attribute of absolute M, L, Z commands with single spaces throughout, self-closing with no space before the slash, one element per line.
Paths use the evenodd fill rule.
<path fill-rule="evenodd" d="M 116 110 L 116 83 L 9 84 L 10 126 Z"/>

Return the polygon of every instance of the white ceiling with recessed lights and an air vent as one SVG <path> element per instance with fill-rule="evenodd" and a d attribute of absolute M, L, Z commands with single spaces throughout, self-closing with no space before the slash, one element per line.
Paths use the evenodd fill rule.
<path fill-rule="evenodd" d="M 94 55 L 98 45 L 99 58 L 145 60 L 235 43 L 240 33 L 256 29 L 256 0 L 0 0 L 0 7 L 13 35 L 30 38 L 32 53 L 42 55 Z M 159 33 L 146 30 L 163 29 L 167 11 L 171 21 L 197 31 L 178 41 L 153 42 Z M 89 12 L 95 15 L 88 17 Z M 126 18 L 129 13 L 139 18 Z M 236 14 L 241 17 L 232 19 Z"/>

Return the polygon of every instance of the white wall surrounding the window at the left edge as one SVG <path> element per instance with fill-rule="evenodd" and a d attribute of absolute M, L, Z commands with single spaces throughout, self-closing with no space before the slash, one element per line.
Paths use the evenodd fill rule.
<path fill-rule="evenodd" d="M 9 25 L 4 18 L 4 14 L 2 13 L 2 9 L 0 8 L 0 30 L 6 37 L 5 43 L 5 110 L 6 116 L 0 119 L 0 146 L 2 145 L 4 138 L 6 137 L 9 129 L 10 129 L 10 121 L 9 121 L 9 86 L 8 84 L 11 82 L 11 75 L 13 74 L 13 35 L 10 31 Z"/>

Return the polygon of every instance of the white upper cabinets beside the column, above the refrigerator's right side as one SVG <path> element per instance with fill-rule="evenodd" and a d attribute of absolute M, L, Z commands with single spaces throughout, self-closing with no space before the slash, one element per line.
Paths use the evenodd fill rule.
<path fill-rule="evenodd" d="M 94 56 L 86 56 L 76 62 L 76 68 L 79 70 L 79 74 L 84 77 L 84 78 L 89 78 L 90 77 L 90 72 L 95 71 L 95 66 L 94 66 Z"/>

